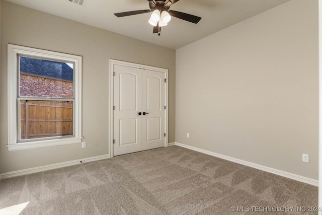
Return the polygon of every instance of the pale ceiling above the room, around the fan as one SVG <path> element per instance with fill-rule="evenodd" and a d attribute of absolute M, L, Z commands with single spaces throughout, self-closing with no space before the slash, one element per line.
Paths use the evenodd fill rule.
<path fill-rule="evenodd" d="M 149 9 L 146 0 L 86 0 L 85 6 L 68 0 L 6 0 L 31 9 L 178 49 L 290 0 L 180 0 L 171 10 L 202 17 L 193 24 L 173 17 L 152 34 L 150 13 L 117 18 L 114 13 Z"/>

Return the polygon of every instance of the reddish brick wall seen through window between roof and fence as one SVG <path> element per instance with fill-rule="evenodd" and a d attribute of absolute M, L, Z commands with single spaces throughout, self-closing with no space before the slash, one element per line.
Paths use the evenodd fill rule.
<path fill-rule="evenodd" d="M 20 75 L 20 95 L 35 97 L 73 98 L 72 83 Z"/>

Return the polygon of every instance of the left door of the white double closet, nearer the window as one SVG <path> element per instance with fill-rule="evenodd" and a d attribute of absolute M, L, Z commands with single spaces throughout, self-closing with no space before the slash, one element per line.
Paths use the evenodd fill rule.
<path fill-rule="evenodd" d="M 114 67 L 114 155 L 142 150 L 142 69 Z"/>

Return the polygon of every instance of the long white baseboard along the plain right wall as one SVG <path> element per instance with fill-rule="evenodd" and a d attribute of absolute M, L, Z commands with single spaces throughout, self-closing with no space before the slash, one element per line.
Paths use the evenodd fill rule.
<path fill-rule="evenodd" d="M 211 155 L 211 156 L 214 156 L 214 157 L 217 157 L 217 158 L 221 158 L 221 159 L 224 159 L 224 160 L 227 160 L 227 161 L 231 161 L 231 162 L 234 162 L 234 163 L 237 163 L 237 164 L 242 164 L 242 165 L 252 167 L 252 168 L 255 168 L 255 169 L 259 169 L 259 170 L 262 170 L 262 171 L 265 171 L 265 172 L 269 172 L 269 173 L 273 173 L 273 174 L 276 174 L 276 175 L 279 175 L 279 176 L 290 178 L 290 179 L 300 181 L 300 182 L 303 182 L 303 183 L 306 183 L 306 184 L 318 186 L 318 180 L 315 180 L 315 179 L 311 179 L 311 178 L 303 177 L 303 176 L 296 175 L 296 174 L 293 174 L 293 173 L 285 172 L 285 171 L 282 171 L 282 170 L 262 166 L 262 165 L 251 163 L 251 162 L 248 162 L 248 161 L 243 161 L 243 160 L 240 160 L 240 159 L 232 158 L 232 157 L 229 157 L 229 156 L 221 155 L 221 154 L 218 154 L 218 153 L 210 152 L 210 151 L 199 149 L 199 148 L 196 148 L 196 147 L 191 147 L 191 146 L 188 146 L 188 145 L 185 145 L 185 144 L 180 144 L 179 142 L 175 142 L 175 145 L 179 146 L 179 147 L 186 148 L 186 149 L 190 149 L 190 150 L 193 150 L 193 151 L 196 151 L 196 152 L 201 152 L 201 153 L 204 153 L 204 154 L 207 154 L 207 155 Z"/>

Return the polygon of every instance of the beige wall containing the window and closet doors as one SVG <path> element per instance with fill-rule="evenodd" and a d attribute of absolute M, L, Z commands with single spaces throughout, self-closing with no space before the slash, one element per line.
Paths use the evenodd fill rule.
<path fill-rule="evenodd" d="M 131 39 L 8 2 L 2 2 L 2 173 L 109 154 L 109 59 L 169 69 L 169 142 L 175 141 L 175 50 Z M 83 136 L 80 144 L 9 152 L 7 145 L 7 44 L 83 56 Z M 163 56 L 159 60 L 159 56 Z"/>

